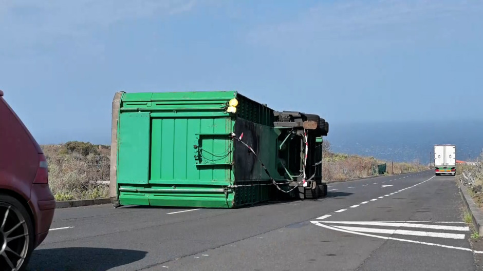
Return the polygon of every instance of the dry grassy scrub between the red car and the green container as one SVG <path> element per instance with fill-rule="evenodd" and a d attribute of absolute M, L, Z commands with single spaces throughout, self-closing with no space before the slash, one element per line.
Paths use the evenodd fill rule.
<path fill-rule="evenodd" d="M 109 180 L 110 150 L 92 145 L 82 155 L 65 145 L 43 145 L 49 164 L 49 186 L 55 199 L 81 200 L 108 197 L 108 186 L 96 181 Z"/>

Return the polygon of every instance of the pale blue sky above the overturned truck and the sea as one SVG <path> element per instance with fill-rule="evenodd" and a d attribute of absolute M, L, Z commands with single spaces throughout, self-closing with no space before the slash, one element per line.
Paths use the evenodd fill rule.
<path fill-rule="evenodd" d="M 108 143 L 119 90 L 237 90 L 331 129 L 481 120 L 481 14 L 472 0 L 0 0 L 0 89 L 41 143 Z"/>

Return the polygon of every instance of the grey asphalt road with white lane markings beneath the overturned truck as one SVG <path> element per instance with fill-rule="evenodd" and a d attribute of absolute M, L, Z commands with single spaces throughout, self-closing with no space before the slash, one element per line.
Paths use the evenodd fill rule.
<path fill-rule="evenodd" d="M 329 186 L 324 199 L 232 210 L 58 209 L 29 270 L 476 269 L 454 177 Z"/>

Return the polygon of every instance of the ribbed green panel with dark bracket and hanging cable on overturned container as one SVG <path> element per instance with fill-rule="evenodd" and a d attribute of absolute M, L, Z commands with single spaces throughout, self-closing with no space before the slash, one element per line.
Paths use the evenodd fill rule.
<path fill-rule="evenodd" d="M 231 118 L 153 118 L 150 183 L 229 185 L 231 123 Z"/>

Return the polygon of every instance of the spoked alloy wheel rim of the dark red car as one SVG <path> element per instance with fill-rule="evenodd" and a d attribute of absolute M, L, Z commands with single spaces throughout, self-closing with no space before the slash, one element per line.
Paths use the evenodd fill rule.
<path fill-rule="evenodd" d="M 5 264 L 6 270 L 17 271 L 27 258 L 28 245 L 28 225 L 22 213 L 0 202 L 0 265 Z"/>

